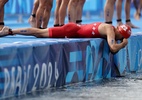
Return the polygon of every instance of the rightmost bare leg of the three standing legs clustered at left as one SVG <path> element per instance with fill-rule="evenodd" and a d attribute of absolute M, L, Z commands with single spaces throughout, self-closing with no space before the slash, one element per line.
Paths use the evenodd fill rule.
<path fill-rule="evenodd" d="M 44 10 L 43 19 L 42 19 L 42 28 L 47 28 L 47 25 L 50 19 L 52 5 L 53 5 L 53 0 L 48 0 L 46 4 L 46 9 Z"/>

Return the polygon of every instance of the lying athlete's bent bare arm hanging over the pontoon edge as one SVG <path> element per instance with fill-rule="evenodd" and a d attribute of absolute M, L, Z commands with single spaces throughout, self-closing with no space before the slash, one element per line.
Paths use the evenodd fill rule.
<path fill-rule="evenodd" d="M 121 43 L 117 43 L 117 41 L 115 40 L 114 29 L 112 27 L 107 28 L 107 42 L 112 53 L 118 52 L 120 49 L 124 48 L 128 43 L 127 39 L 123 39 Z"/>

